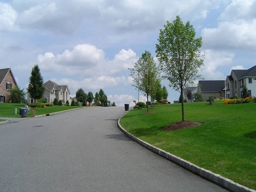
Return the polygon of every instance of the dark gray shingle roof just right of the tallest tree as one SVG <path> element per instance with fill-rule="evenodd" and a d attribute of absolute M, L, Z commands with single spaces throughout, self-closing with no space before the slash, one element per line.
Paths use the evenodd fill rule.
<path fill-rule="evenodd" d="M 224 80 L 198 81 L 201 92 L 219 92 L 225 88 Z"/>

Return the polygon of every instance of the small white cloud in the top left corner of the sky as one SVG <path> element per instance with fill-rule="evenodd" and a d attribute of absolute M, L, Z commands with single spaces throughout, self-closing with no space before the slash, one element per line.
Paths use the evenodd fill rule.
<path fill-rule="evenodd" d="M 15 30 L 15 21 L 18 13 L 7 3 L 0 2 L 0 31 Z"/>

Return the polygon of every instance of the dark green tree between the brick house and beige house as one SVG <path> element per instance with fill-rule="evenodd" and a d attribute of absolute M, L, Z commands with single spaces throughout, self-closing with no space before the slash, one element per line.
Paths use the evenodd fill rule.
<path fill-rule="evenodd" d="M 41 75 L 40 69 L 38 65 L 35 65 L 32 68 L 31 75 L 29 77 L 29 86 L 27 91 L 31 98 L 34 99 L 41 99 L 44 96 L 44 79 Z"/>

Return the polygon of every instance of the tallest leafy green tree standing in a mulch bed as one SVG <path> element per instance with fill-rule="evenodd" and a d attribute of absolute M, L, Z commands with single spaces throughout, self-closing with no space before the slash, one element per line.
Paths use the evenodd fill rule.
<path fill-rule="evenodd" d="M 188 22 L 183 24 L 180 16 L 160 29 L 156 44 L 157 58 L 169 86 L 181 94 L 182 121 L 185 120 L 183 105 L 183 88 L 200 77 L 198 68 L 204 65 L 204 55 L 201 54 L 202 38 L 195 38 L 195 29 Z"/>

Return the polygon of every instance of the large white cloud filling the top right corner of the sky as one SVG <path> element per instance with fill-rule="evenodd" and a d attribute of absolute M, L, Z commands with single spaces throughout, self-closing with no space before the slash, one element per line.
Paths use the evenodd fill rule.
<path fill-rule="evenodd" d="M 202 29 L 204 46 L 255 51 L 255 9 L 255 0 L 233 0 L 219 17 L 217 28 Z"/>

